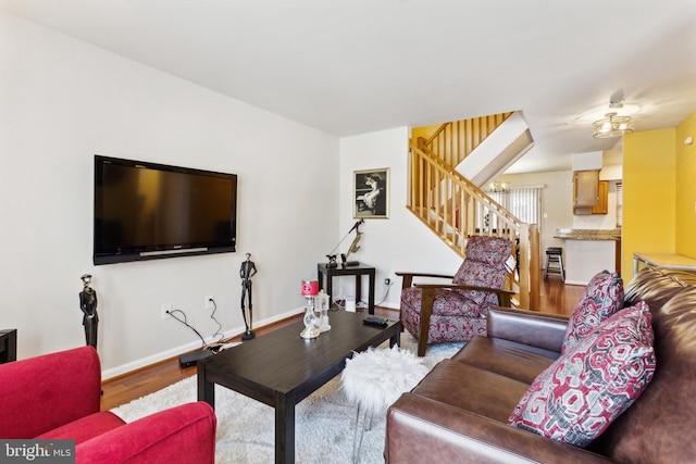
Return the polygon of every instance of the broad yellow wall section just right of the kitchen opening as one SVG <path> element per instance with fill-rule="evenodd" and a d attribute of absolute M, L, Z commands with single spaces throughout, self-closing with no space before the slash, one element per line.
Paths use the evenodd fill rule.
<path fill-rule="evenodd" d="M 633 277 L 635 251 L 675 252 L 676 129 L 633 133 L 623 138 L 621 275 Z"/>

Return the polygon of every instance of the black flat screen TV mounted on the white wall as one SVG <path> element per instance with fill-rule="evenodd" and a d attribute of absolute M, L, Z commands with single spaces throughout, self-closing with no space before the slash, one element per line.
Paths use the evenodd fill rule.
<path fill-rule="evenodd" d="M 95 155 L 94 262 L 235 251 L 237 176 Z"/>

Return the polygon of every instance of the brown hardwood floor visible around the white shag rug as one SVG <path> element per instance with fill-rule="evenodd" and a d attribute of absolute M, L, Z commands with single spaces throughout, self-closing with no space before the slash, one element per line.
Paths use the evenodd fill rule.
<path fill-rule="evenodd" d="M 542 279 L 540 311 L 555 314 L 571 314 L 575 303 L 584 291 L 584 286 L 563 285 L 557 277 Z M 382 317 L 397 318 L 398 310 L 375 308 L 375 314 Z M 300 315 L 281 321 L 271 326 L 256 329 L 257 337 L 262 337 L 284 325 L 300 318 Z M 226 341 L 239 341 L 240 336 Z M 125 404 L 145 394 L 152 393 L 169 385 L 196 375 L 196 366 L 182 368 L 178 358 L 162 361 L 161 363 L 145 367 L 102 384 L 103 396 L 101 410 L 108 411 L 121 404 Z"/>

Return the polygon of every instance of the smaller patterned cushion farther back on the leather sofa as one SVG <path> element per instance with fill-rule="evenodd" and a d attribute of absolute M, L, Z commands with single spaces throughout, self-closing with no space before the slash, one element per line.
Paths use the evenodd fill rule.
<path fill-rule="evenodd" d="M 602 271 L 585 287 L 568 322 L 561 352 L 572 348 L 583 337 L 623 306 L 623 280 L 617 273 Z"/>

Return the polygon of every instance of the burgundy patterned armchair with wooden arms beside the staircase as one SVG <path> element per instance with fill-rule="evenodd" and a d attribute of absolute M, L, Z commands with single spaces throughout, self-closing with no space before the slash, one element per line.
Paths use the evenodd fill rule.
<path fill-rule="evenodd" d="M 511 251 L 512 242 L 506 238 L 472 236 L 455 276 L 396 273 L 403 277 L 401 324 L 418 339 L 419 356 L 427 344 L 486 335 L 488 309 L 510 305 L 512 292 L 504 288 Z M 447 278 L 451 284 L 414 284 L 414 277 Z"/>

